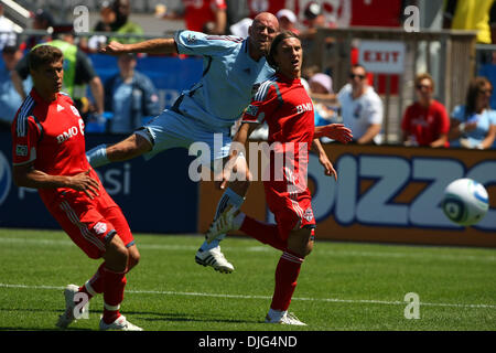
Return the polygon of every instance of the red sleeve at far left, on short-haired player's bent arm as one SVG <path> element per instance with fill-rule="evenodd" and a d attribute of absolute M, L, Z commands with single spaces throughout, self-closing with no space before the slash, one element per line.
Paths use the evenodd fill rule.
<path fill-rule="evenodd" d="M 33 116 L 15 116 L 12 124 L 12 164 L 26 164 L 36 159 L 37 141 L 43 130 Z"/>

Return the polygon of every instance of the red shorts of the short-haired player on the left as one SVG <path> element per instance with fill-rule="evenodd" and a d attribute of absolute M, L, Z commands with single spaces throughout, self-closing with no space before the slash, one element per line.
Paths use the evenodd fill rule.
<path fill-rule="evenodd" d="M 110 195 L 100 189 L 99 197 L 64 195 L 48 207 L 71 239 L 89 258 L 100 258 L 105 246 L 118 235 L 126 247 L 134 244 L 128 221 Z"/>

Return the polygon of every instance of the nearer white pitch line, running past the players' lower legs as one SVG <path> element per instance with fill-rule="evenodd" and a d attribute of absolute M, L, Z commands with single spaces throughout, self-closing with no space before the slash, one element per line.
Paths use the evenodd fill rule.
<path fill-rule="evenodd" d="M 63 290 L 64 287 L 58 286 L 28 286 L 28 285 L 11 285 L 0 284 L 0 288 L 20 288 L 20 289 L 53 289 Z M 244 295 L 220 295 L 220 293 L 201 293 L 186 291 L 162 291 L 162 290 L 126 290 L 127 293 L 137 295 L 161 295 L 161 296 L 190 296 L 190 297 L 211 297 L 211 298 L 231 298 L 231 299 L 271 299 L 268 296 L 244 296 Z M 388 306 L 405 306 L 405 301 L 387 301 L 387 300 L 362 300 L 362 299 L 337 299 L 337 298 L 292 298 L 292 300 L 301 301 L 324 301 L 324 302 L 343 302 L 343 303 L 367 303 L 367 304 L 388 304 Z M 471 309 L 496 309 L 493 304 L 461 304 L 461 303 L 442 303 L 442 302 L 420 302 L 420 306 L 425 307 L 452 307 L 452 308 L 471 308 Z"/>

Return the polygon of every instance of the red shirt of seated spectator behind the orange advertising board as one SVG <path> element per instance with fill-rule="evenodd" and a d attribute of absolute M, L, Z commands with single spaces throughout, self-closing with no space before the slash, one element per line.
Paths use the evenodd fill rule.
<path fill-rule="evenodd" d="M 429 146 L 450 130 L 450 118 L 446 109 L 438 100 L 432 100 L 429 108 L 418 101 L 407 108 L 401 120 L 401 129 L 413 136 L 419 146 Z M 449 147 L 446 141 L 445 147 Z"/>

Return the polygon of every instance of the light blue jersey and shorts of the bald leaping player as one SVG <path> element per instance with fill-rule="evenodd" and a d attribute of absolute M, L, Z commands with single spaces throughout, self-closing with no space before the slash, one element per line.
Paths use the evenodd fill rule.
<path fill-rule="evenodd" d="M 136 133 L 153 147 L 145 159 L 170 148 L 204 142 L 209 153 L 202 154 L 202 163 L 209 164 L 228 156 L 230 127 L 274 71 L 265 57 L 256 62 L 249 56 L 248 40 L 180 31 L 175 42 L 179 53 L 204 57 L 203 76 Z"/>

